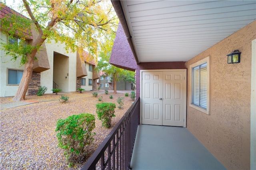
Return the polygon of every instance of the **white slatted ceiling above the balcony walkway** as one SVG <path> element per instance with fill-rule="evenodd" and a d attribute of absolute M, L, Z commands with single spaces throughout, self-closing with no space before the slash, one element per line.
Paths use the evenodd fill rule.
<path fill-rule="evenodd" d="M 120 4 L 139 62 L 188 61 L 256 19 L 255 0 Z"/>

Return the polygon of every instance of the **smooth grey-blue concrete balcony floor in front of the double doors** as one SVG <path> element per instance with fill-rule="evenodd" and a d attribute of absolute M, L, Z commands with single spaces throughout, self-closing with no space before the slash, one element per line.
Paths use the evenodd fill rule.
<path fill-rule="evenodd" d="M 226 169 L 187 128 L 139 125 L 132 170 Z"/>

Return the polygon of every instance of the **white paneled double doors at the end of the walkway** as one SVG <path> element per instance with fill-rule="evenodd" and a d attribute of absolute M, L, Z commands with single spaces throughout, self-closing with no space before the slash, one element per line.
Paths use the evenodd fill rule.
<path fill-rule="evenodd" d="M 142 124 L 186 127 L 186 70 L 142 71 Z"/>

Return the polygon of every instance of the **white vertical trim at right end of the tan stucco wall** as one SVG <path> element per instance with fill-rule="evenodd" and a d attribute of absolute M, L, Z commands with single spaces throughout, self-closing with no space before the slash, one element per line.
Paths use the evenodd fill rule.
<path fill-rule="evenodd" d="M 250 169 L 256 169 L 256 39 L 252 40 L 252 73 L 251 73 L 251 156 Z"/>

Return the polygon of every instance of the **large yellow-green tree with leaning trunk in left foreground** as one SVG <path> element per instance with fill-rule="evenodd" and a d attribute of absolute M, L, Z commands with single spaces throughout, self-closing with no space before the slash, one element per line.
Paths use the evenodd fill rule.
<path fill-rule="evenodd" d="M 36 53 L 40 51 L 42 43 L 64 43 L 66 50 L 82 53 L 87 49 L 91 55 L 97 57 L 97 50 L 106 35 L 112 34 L 112 26 L 116 24 L 116 16 L 112 13 L 111 4 L 101 0 L 22 0 L 20 8 L 28 16 L 10 15 L 1 19 L 1 27 L 11 38 L 18 37 L 16 44 L 1 44 L 6 55 L 12 60 L 21 57 L 24 65 L 23 77 L 18 91 L 12 100 L 25 99 L 29 81 L 32 77 Z M 104 4 L 105 3 L 105 4 Z M 2 6 L 2 4 L 1 4 Z M 47 23 L 47 24 L 46 24 Z M 24 31 L 36 29 L 37 36 L 26 44 Z"/>

